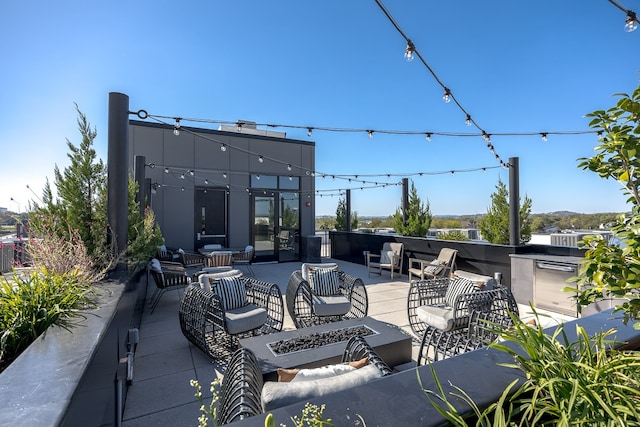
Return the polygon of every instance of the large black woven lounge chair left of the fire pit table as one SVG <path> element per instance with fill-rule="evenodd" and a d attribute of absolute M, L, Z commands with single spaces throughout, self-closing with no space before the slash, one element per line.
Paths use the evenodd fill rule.
<path fill-rule="evenodd" d="M 184 336 L 212 358 L 228 356 L 238 338 L 282 330 L 284 303 L 278 285 L 238 270 L 201 274 L 185 290 L 179 310 Z"/>

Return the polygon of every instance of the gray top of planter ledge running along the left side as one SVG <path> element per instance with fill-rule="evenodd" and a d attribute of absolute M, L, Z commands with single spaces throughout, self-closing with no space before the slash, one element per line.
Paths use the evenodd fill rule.
<path fill-rule="evenodd" d="M 71 331 L 51 327 L 0 374 L 0 425 L 57 426 L 67 412 L 95 349 L 125 290 L 96 285 L 99 308 L 87 310 Z"/>

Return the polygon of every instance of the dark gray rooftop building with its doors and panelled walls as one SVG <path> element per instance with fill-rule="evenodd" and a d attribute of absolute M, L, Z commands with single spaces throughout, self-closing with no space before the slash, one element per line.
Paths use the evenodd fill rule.
<path fill-rule="evenodd" d="M 129 169 L 144 160 L 147 200 L 166 245 L 253 245 L 256 261 L 300 259 L 315 233 L 315 143 L 256 129 L 129 121 Z"/>

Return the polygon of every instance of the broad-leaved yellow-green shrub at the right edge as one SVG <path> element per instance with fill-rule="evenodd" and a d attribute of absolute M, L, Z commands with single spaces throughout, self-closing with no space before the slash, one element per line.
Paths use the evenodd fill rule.
<path fill-rule="evenodd" d="M 625 323 L 633 319 L 640 329 L 640 87 L 631 96 L 618 96 L 614 107 L 587 115 L 589 126 L 603 133 L 596 154 L 578 160 L 580 168 L 618 181 L 631 212 L 617 216 L 610 227 L 618 243 L 600 236 L 582 240 L 588 249 L 576 279 L 578 306 L 603 298 L 624 299 L 616 310 L 624 313 Z"/>

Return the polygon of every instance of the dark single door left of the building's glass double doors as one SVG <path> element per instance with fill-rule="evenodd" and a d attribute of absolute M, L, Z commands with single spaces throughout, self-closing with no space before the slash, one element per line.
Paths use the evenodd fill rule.
<path fill-rule="evenodd" d="M 194 248 L 210 243 L 227 246 L 227 192 L 197 188 L 195 192 Z"/>

